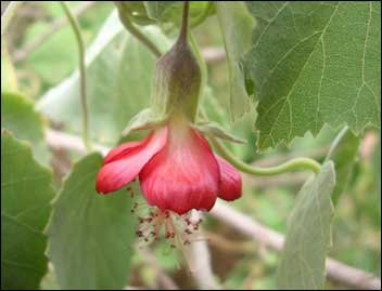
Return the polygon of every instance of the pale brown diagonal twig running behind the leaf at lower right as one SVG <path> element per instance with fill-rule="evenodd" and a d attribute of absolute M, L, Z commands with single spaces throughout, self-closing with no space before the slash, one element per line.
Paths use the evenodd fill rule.
<path fill-rule="evenodd" d="M 211 211 L 211 214 L 226 224 L 231 225 L 243 235 L 251 237 L 255 241 L 268 246 L 277 251 L 282 250 L 284 242 L 284 237 L 282 235 L 269 229 L 233 208 L 230 208 L 221 202 L 217 202 Z M 381 289 L 380 278 L 355 267 L 347 266 L 333 259 L 327 259 L 327 276 L 331 280 L 355 289 Z"/>

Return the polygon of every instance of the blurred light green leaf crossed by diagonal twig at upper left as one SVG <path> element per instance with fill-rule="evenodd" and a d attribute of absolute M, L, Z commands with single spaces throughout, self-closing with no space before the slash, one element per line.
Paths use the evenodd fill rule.
<path fill-rule="evenodd" d="M 79 1 L 68 1 L 72 11 L 78 10 L 80 4 Z M 81 13 L 78 21 L 85 42 L 96 36 L 112 8 L 110 3 L 100 2 Z M 47 34 L 51 29 L 52 23 L 58 18 L 65 18 L 62 8 L 56 2 L 40 2 L 38 9 L 38 11 L 41 10 L 40 13 L 42 12 L 44 17 L 41 15 L 41 21 L 28 24 L 21 48 L 28 48 L 41 35 Z M 52 64 L 54 64 L 54 69 Z M 69 76 L 78 67 L 78 48 L 71 26 L 65 25 L 55 29 L 54 34 L 47 37 L 38 48 L 26 55 L 23 65 L 27 71 L 33 70 L 30 74 L 35 79 L 35 75 L 41 78 L 43 87 L 55 85 Z M 52 74 L 52 70 L 54 70 L 54 74 Z"/>

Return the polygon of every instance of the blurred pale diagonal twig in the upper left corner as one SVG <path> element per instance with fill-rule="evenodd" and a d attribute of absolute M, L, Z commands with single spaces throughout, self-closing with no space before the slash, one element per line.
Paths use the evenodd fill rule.
<path fill-rule="evenodd" d="M 77 18 L 78 16 L 87 12 L 90 8 L 94 6 L 94 4 L 97 3 L 97 1 L 85 1 L 82 4 L 74 9 L 72 14 Z M 40 47 L 52 35 L 54 35 L 54 32 L 64 27 L 66 24 L 67 17 L 65 16 L 55 19 L 47 31 L 30 40 L 30 42 L 26 43 L 26 45 L 22 50 L 15 51 L 12 55 L 13 61 L 15 63 L 24 61 L 33 51 Z"/>

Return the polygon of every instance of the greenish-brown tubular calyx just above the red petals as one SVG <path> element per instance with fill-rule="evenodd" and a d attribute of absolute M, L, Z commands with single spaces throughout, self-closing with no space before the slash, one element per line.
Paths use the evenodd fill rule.
<path fill-rule="evenodd" d="M 193 122 L 201 82 L 201 68 L 187 40 L 187 32 L 181 34 L 175 45 L 156 63 L 153 110 L 166 117 L 178 111 Z"/>

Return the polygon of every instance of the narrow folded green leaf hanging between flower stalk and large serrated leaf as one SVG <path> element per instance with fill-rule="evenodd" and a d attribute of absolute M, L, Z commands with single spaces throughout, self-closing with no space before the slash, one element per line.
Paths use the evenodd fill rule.
<path fill-rule="evenodd" d="M 251 108 L 240 61 L 251 49 L 249 36 L 255 21 L 242 1 L 216 1 L 215 4 L 227 54 L 231 116 L 235 120 Z"/>

